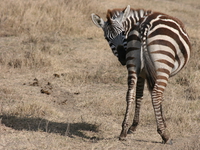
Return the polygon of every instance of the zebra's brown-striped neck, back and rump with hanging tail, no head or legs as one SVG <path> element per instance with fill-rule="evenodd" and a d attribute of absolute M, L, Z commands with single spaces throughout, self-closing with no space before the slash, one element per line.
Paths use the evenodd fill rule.
<path fill-rule="evenodd" d="M 158 70 L 173 76 L 187 64 L 191 45 L 184 25 L 179 19 L 159 12 L 131 9 L 129 17 L 124 22 L 124 28 L 128 32 L 128 42 L 137 39 L 141 43 L 141 68 L 144 67 L 150 91 L 155 85 Z M 138 30 L 138 37 L 129 35 L 133 30 Z M 160 38 L 157 38 L 158 36 Z M 166 48 L 152 48 L 156 45 Z"/>

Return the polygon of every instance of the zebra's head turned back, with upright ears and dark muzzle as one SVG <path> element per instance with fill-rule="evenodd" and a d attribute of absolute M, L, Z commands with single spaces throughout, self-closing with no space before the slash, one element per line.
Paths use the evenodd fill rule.
<path fill-rule="evenodd" d="M 105 39 L 108 41 L 114 55 L 118 57 L 122 65 L 126 65 L 127 48 L 126 32 L 123 22 L 125 22 L 129 12 L 129 5 L 124 10 L 108 10 L 106 22 L 98 15 L 91 14 L 92 21 L 97 27 L 103 29 Z"/>

